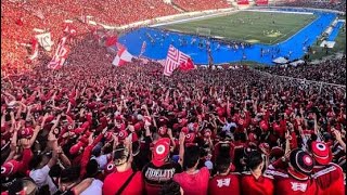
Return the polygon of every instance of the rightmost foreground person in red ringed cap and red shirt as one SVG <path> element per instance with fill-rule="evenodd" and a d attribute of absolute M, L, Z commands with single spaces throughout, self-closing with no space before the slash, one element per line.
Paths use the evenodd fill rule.
<path fill-rule="evenodd" d="M 320 195 L 343 195 L 345 194 L 344 171 L 332 162 L 332 153 L 329 145 L 323 142 L 312 142 L 311 153 L 314 158 L 313 178 L 318 185 Z"/>

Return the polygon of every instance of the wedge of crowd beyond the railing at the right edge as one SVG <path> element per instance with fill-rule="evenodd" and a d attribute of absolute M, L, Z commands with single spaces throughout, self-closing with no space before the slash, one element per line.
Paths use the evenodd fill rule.
<path fill-rule="evenodd" d="M 272 75 L 286 76 L 334 84 L 346 83 L 346 57 L 326 60 L 319 64 L 299 64 L 297 66 L 268 66 L 259 69 Z"/>

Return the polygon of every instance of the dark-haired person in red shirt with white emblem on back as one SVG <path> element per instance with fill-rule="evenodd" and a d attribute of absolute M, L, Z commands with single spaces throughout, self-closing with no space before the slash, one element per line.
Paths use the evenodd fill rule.
<path fill-rule="evenodd" d="M 240 194 L 240 174 L 231 172 L 230 157 L 217 157 L 216 160 L 217 174 L 209 180 L 208 194 Z"/>

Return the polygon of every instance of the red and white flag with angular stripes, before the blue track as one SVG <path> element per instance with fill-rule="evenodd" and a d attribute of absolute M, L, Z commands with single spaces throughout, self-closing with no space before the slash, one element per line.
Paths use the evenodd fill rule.
<path fill-rule="evenodd" d="M 171 76 L 174 70 L 182 63 L 187 63 L 189 58 L 189 55 L 170 46 L 165 61 L 164 75 L 168 77 Z"/>

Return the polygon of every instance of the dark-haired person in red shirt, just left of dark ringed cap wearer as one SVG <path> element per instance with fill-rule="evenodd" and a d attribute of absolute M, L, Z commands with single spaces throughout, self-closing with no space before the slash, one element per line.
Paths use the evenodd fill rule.
<path fill-rule="evenodd" d="M 243 172 L 241 179 L 241 194 L 272 195 L 274 192 L 273 178 L 262 173 L 265 160 L 261 153 L 252 151 L 246 158 L 248 171 Z"/>

